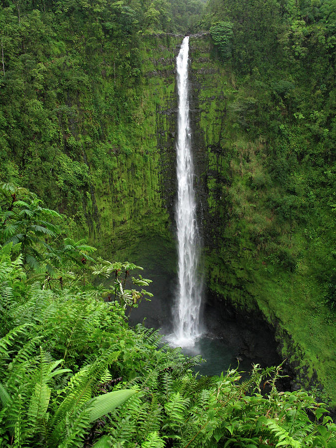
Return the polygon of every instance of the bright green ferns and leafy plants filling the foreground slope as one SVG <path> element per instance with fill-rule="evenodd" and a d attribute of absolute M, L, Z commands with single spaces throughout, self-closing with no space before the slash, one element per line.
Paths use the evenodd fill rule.
<path fill-rule="evenodd" d="M 199 356 L 128 327 L 149 283 L 135 265 L 97 262 L 30 192 L 0 194 L 1 447 L 336 446 L 323 403 L 277 391 L 281 366 L 195 375 Z"/>

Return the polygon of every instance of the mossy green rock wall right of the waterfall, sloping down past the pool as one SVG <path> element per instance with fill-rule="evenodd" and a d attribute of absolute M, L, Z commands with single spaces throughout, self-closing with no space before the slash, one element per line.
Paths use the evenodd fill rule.
<path fill-rule="evenodd" d="M 244 118 L 257 94 L 241 87 L 230 66 L 219 62 L 208 35 L 191 37 L 190 58 L 210 305 L 233 305 L 240 314 L 261 311 L 276 328 L 279 352 L 296 372 L 293 384 L 322 385 L 335 400 L 333 315 L 304 229 L 297 224 L 292 234 L 289 222 L 280 224 L 270 207 L 282 195 L 267 174 L 272 141 L 261 128 L 250 132 Z"/>

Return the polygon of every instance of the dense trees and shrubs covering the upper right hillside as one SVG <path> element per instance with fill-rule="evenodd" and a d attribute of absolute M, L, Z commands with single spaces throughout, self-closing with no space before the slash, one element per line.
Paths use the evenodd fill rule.
<path fill-rule="evenodd" d="M 228 81 L 228 141 L 219 142 L 234 187 L 226 209 L 255 224 L 244 245 L 264 249 L 268 265 L 305 269 L 309 247 L 309 263 L 334 308 L 335 1 L 211 0 L 203 22 Z M 234 234 L 240 224 L 231 224 Z"/>

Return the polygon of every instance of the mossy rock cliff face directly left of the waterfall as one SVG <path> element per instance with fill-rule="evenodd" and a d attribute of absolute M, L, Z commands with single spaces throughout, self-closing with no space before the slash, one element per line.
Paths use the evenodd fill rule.
<path fill-rule="evenodd" d="M 95 176 L 87 207 L 90 237 L 98 248 L 127 254 L 137 238 L 171 238 L 175 196 L 176 95 L 174 57 L 180 38 L 148 38 L 140 48 L 141 81 L 127 92 L 136 96 L 132 122 L 124 125 L 129 153 L 116 153 L 115 167 Z M 115 129 L 117 132 L 118 129 Z M 91 214 L 91 211 L 94 214 Z"/>

